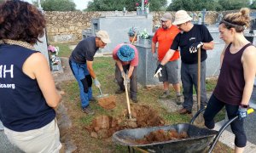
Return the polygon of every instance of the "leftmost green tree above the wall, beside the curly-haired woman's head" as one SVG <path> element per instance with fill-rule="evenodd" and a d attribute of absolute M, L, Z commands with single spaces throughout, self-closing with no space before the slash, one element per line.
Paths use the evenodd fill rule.
<path fill-rule="evenodd" d="M 44 0 L 41 1 L 45 11 L 74 11 L 76 4 L 73 0 Z"/>

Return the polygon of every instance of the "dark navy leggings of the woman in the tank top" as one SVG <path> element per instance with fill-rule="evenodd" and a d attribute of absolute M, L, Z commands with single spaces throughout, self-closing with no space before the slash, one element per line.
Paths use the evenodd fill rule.
<path fill-rule="evenodd" d="M 228 105 L 223 101 L 218 100 L 213 94 L 209 99 L 207 104 L 207 110 L 204 113 L 205 125 L 208 128 L 214 127 L 214 116 L 217 115 L 218 111 L 220 111 L 225 106 L 227 111 L 227 115 L 229 120 L 235 116 L 237 116 L 238 105 Z M 236 119 L 234 122 L 230 124 L 232 132 L 235 134 L 235 144 L 238 147 L 245 147 L 247 144 L 247 136 L 243 127 L 243 119 Z"/>

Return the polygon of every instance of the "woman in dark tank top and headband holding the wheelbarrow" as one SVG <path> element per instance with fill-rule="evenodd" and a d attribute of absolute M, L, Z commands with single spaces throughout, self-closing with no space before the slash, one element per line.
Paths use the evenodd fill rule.
<path fill-rule="evenodd" d="M 256 74 L 256 48 L 243 36 L 249 22 L 249 9 L 241 8 L 238 13 L 225 15 L 218 26 L 220 38 L 227 45 L 220 57 L 217 86 L 204 113 L 205 125 L 211 129 L 214 127 L 214 116 L 224 106 L 229 119 L 239 116 L 239 119 L 231 123 L 232 132 L 236 136 L 236 153 L 242 152 L 247 143 L 243 120 L 247 116 Z"/>

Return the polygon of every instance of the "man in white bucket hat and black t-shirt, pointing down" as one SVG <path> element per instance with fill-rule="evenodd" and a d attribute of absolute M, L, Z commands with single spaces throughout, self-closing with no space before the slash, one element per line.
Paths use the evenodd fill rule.
<path fill-rule="evenodd" d="M 184 10 L 179 10 L 175 14 L 172 23 L 181 30 L 172 42 L 171 48 L 166 53 L 164 59 L 158 65 L 155 75 L 160 75 L 161 69 L 172 58 L 173 54 L 180 48 L 181 54 L 181 80 L 183 84 L 183 109 L 180 114 L 190 114 L 193 106 L 193 85 L 197 90 L 197 50 L 201 48 L 201 107 L 207 104 L 206 91 L 206 59 L 207 50 L 214 47 L 213 39 L 204 25 L 194 25 L 192 18 Z"/>

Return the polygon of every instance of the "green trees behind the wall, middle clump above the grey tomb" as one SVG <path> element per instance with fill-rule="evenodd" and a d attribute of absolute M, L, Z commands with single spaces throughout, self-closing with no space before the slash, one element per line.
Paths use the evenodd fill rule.
<path fill-rule="evenodd" d="M 141 6 L 141 0 L 93 0 L 87 5 L 86 11 L 114 11 L 123 10 L 125 7 L 128 11 L 136 10 L 136 3 Z M 165 8 L 167 0 L 148 0 L 150 3 L 149 8 L 152 11 L 160 10 L 160 8 Z"/>

